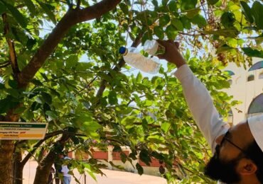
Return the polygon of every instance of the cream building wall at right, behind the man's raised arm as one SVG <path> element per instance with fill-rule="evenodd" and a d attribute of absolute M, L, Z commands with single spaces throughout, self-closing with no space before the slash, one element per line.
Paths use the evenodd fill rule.
<path fill-rule="evenodd" d="M 262 60 L 262 58 L 253 58 L 252 64 L 256 64 Z M 247 118 L 247 112 L 252 100 L 263 93 L 263 79 L 259 79 L 259 75 L 263 74 L 263 69 L 248 71 L 249 68 L 247 66 L 247 69 L 244 69 L 244 67 L 237 67 L 236 64 L 230 63 L 225 69 L 235 73 L 235 75 L 232 75 L 230 88 L 225 91 L 228 95 L 233 96 L 234 100 L 242 102 L 240 105 L 232 108 L 234 125 Z M 253 81 L 247 81 L 250 75 L 254 75 Z"/>

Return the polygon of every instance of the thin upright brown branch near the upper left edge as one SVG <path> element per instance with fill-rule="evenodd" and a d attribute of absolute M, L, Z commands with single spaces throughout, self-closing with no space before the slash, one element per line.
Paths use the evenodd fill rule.
<path fill-rule="evenodd" d="M 3 22 L 4 22 L 4 35 L 7 35 L 9 33 L 9 23 L 6 20 L 6 18 L 7 18 L 6 13 L 2 14 L 2 18 L 3 18 Z M 10 38 L 8 38 L 7 36 L 6 36 L 6 42 L 9 45 L 9 54 L 10 54 L 11 65 L 12 65 L 12 69 L 13 69 L 13 73 L 14 73 L 14 78 L 17 80 L 17 75 L 20 71 L 18 69 L 14 42 L 12 42 L 12 40 Z"/>

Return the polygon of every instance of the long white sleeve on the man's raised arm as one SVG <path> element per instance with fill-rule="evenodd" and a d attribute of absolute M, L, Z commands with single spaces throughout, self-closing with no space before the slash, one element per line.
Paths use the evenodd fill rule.
<path fill-rule="evenodd" d="M 205 86 L 197 79 L 187 64 L 179 67 L 175 72 L 176 78 L 181 81 L 183 94 L 193 119 L 198 125 L 210 148 L 215 151 L 215 138 L 225 134 L 229 125 L 222 122 L 218 110 Z"/>

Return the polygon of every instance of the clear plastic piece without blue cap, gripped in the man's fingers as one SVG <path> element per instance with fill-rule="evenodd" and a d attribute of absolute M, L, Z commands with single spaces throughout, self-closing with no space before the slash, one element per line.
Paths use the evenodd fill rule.
<path fill-rule="evenodd" d="M 166 52 L 165 48 L 156 40 L 146 40 L 144 42 L 144 51 L 153 56 Z"/>

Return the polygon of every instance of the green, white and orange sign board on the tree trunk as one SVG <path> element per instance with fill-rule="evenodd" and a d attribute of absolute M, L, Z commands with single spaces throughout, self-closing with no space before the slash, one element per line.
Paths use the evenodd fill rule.
<path fill-rule="evenodd" d="M 43 139 L 48 123 L 0 122 L 0 139 Z"/>

